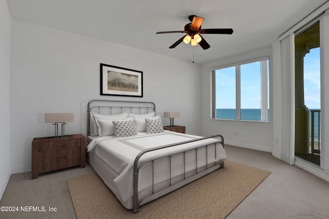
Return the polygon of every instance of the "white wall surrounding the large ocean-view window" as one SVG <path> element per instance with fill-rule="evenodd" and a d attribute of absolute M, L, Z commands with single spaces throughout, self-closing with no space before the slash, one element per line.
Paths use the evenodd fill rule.
<path fill-rule="evenodd" d="M 211 120 L 210 118 L 210 97 L 211 81 L 209 69 L 238 62 L 248 61 L 254 58 L 269 56 L 269 101 L 270 101 L 270 122 L 247 122 L 247 121 L 224 121 Z M 264 48 L 244 54 L 226 57 L 217 61 L 202 65 L 201 76 L 201 134 L 212 135 L 222 134 L 225 144 L 272 152 L 273 131 L 272 131 L 272 48 Z M 237 132 L 237 136 L 235 136 Z"/>

